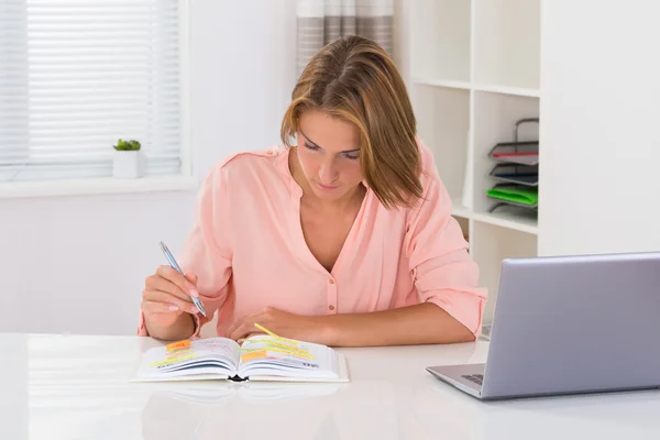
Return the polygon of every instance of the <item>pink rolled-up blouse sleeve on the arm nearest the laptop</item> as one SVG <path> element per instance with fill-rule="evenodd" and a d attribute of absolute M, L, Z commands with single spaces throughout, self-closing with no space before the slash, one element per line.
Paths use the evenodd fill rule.
<path fill-rule="evenodd" d="M 433 302 L 481 333 L 486 288 L 479 285 L 479 267 L 468 252 L 461 227 L 451 216 L 451 198 L 429 166 L 422 180 L 424 200 L 410 210 L 406 249 L 420 302 Z"/>

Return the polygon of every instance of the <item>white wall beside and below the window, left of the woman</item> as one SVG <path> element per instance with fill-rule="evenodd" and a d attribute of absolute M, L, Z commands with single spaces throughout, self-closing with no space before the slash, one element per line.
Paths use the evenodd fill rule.
<path fill-rule="evenodd" d="M 191 1 L 198 177 L 278 143 L 295 82 L 295 0 Z M 191 222 L 195 191 L 0 199 L 0 332 L 134 334 L 143 279 Z M 80 311 L 76 311 L 80 310 Z"/>

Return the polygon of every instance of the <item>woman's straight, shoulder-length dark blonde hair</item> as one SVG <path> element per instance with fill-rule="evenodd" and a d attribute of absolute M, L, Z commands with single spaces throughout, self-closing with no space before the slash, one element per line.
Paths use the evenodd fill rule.
<path fill-rule="evenodd" d="M 286 145 L 307 110 L 321 110 L 358 127 L 362 175 L 386 208 L 410 206 L 421 197 L 415 114 L 404 80 L 378 44 L 346 36 L 311 58 L 282 121 Z"/>

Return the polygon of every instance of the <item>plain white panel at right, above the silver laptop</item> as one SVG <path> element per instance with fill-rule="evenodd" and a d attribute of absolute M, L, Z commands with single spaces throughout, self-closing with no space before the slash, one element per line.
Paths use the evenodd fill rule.
<path fill-rule="evenodd" d="M 539 252 L 660 250 L 660 2 L 542 2 Z"/>

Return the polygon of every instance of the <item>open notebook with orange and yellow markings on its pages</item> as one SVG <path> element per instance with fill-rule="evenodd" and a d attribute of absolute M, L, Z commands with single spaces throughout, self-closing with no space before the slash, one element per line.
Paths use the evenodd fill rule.
<path fill-rule="evenodd" d="M 345 358 L 329 346 L 271 334 L 206 338 L 155 346 L 144 353 L 133 382 L 163 381 L 349 382 Z"/>

